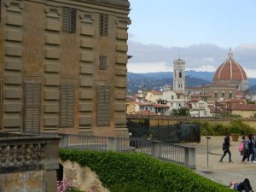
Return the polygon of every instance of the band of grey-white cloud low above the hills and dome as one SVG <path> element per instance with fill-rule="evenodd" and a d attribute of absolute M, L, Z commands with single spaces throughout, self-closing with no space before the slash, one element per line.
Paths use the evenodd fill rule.
<path fill-rule="evenodd" d="M 226 59 L 230 48 L 214 44 L 193 44 L 189 47 L 164 47 L 129 41 L 132 58 L 127 68 L 131 73 L 172 72 L 173 60 L 186 61 L 186 70 L 214 72 Z M 256 44 L 241 44 L 232 48 L 235 60 L 246 70 L 249 78 L 256 78 Z M 254 74 L 254 77 L 253 77 Z"/>

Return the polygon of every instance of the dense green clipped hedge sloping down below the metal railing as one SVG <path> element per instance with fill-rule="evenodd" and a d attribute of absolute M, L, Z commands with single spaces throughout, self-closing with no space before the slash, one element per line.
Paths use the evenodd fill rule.
<path fill-rule="evenodd" d="M 118 191 L 118 187 L 125 185 L 148 192 L 230 191 L 226 186 L 201 177 L 184 166 L 157 160 L 146 154 L 60 149 L 59 157 L 63 161 L 71 160 L 80 166 L 89 166 L 110 191 Z"/>

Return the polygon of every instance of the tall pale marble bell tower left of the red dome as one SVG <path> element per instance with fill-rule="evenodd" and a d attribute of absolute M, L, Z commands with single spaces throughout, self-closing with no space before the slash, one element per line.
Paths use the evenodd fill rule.
<path fill-rule="evenodd" d="M 185 90 L 185 64 L 186 61 L 178 60 L 173 61 L 173 91 L 184 93 Z"/>

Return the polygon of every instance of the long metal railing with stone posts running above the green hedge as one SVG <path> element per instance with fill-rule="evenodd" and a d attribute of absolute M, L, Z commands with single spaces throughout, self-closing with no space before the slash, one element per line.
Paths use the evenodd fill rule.
<path fill-rule="evenodd" d="M 61 135 L 59 147 L 101 151 L 136 151 L 161 160 L 173 161 L 195 168 L 195 148 L 143 138 Z"/>

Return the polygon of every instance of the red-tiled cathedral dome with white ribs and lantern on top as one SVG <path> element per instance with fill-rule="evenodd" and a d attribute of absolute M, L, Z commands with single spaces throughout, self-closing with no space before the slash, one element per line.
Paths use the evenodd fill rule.
<path fill-rule="evenodd" d="M 231 83 L 232 81 L 247 81 L 247 74 L 244 69 L 233 59 L 230 48 L 228 59 L 221 64 L 214 73 L 212 83 Z"/>

